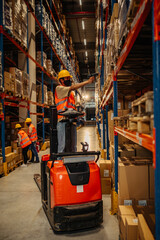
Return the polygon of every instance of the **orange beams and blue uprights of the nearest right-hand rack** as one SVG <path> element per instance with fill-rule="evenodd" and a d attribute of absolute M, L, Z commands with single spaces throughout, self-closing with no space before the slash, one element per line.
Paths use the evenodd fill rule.
<path fill-rule="evenodd" d="M 115 161 L 115 190 L 118 193 L 118 134 L 130 139 L 131 141 L 143 146 L 153 152 L 153 164 L 155 167 L 155 216 L 156 216 L 156 232 L 155 238 L 160 236 L 160 2 L 158 0 L 142 0 L 137 14 L 133 20 L 131 30 L 129 31 L 125 43 L 120 52 L 116 67 L 112 73 L 112 79 L 105 89 L 100 107 L 108 107 L 108 102 L 113 96 L 114 117 L 118 114 L 118 89 L 117 75 L 123 67 L 128 55 L 131 52 L 143 24 L 149 15 L 152 7 L 152 65 L 153 65 L 153 92 L 154 92 L 154 128 L 153 136 L 140 134 L 135 131 L 129 131 L 121 127 L 114 127 L 114 161 Z"/>

